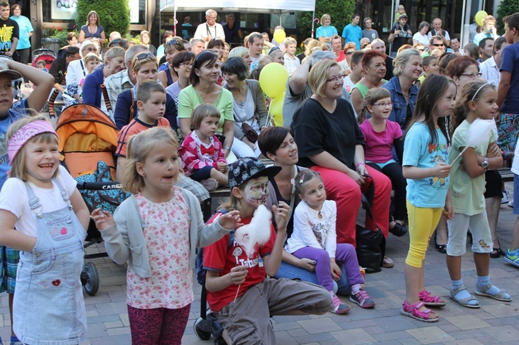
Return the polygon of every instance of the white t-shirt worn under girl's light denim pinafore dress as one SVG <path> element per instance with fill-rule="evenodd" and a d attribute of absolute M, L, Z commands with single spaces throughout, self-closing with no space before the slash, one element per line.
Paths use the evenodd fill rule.
<path fill-rule="evenodd" d="M 75 191 L 77 183 L 64 167 L 60 165 L 59 169 L 57 181 L 70 197 Z M 48 213 L 66 207 L 67 204 L 63 200 L 60 188 L 55 183 L 53 183 L 53 188 L 50 189 L 37 187 L 30 182 L 29 184 L 30 187 L 33 187 L 36 196 L 39 198 L 39 203 L 42 205 L 41 211 L 39 209 L 37 211 Z M 17 216 L 18 219 L 15 224 L 17 230 L 29 236 L 37 237 L 35 214 L 30 211 L 26 187 L 22 180 L 19 178 L 8 178 L 6 180 L 0 192 L 0 209 L 5 209 Z"/>

